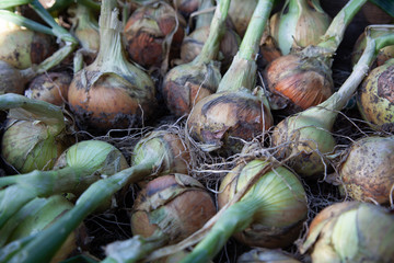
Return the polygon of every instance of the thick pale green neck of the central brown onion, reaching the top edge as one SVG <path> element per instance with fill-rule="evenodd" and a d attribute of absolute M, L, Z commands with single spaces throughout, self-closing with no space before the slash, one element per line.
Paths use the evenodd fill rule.
<path fill-rule="evenodd" d="M 240 50 L 219 83 L 217 92 L 242 91 L 254 89 L 257 71 L 257 54 L 267 20 L 274 5 L 274 0 L 259 0 L 253 12 Z"/>

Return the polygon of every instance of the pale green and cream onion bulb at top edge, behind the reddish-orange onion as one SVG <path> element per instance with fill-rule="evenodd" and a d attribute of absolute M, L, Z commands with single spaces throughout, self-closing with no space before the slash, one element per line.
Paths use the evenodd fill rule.
<path fill-rule="evenodd" d="M 282 10 L 271 16 L 270 33 L 281 53 L 288 55 L 293 46 L 317 45 L 329 23 L 320 1 L 287 0 Z"/>

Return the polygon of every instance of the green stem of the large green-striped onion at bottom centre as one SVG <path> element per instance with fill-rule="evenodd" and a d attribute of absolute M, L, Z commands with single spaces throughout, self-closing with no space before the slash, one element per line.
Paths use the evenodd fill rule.
<path fill-rule="evenodd" d="M 230 206 L 202 241 L 181 263 L 209 262 L 233 233 L 244 230 L 252 224 L 253 215 L 258 207 L 258 201 L 254 198 L 245 198 Z"/>

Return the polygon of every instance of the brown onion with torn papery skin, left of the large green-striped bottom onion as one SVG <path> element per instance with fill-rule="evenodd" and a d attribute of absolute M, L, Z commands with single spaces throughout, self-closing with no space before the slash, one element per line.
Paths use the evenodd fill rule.
<path fill-rule="evenodd" d="M 212 197 L 197 180 L 181 173 L 163 175 L 138 194 L 131 231 L 147 238 L 160 229 L 174 243 L 200 229 L 215 214 Z"/>

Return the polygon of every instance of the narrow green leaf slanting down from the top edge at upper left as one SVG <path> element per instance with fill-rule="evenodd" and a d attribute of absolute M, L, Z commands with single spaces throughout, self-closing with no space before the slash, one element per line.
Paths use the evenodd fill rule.
<path fill-rule="evenodd" d="M 66 28 L 61 27 L 54 18 L 48 13 L 48 11 L 39 3 L 38 0 L 33 0 L 31 2 L 32 8 L 39 14 L 39 16 L 50 25 L 54 34 L 65 42 L 71 42 L 78 45 L 78 41 L 73 37 Z"/>

